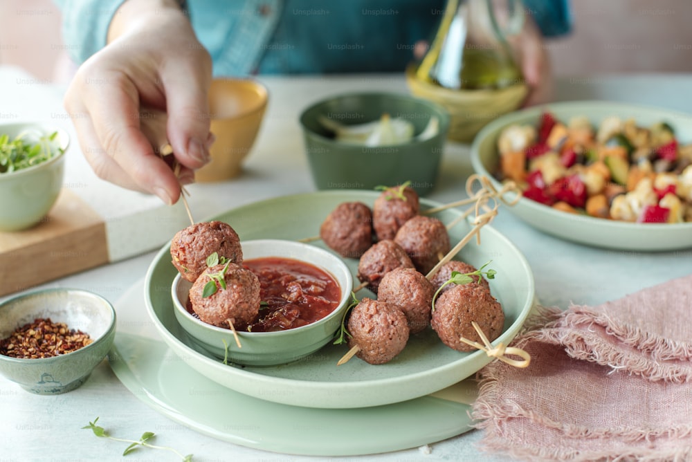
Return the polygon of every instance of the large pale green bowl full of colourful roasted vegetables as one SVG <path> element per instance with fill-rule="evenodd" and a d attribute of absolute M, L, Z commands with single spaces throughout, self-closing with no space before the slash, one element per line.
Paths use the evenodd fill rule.
<path fill-rule="evenodd" d="M 692 114 L 547 104 L 484 127 L 471 162 L 495 187 L 516 183 L 509 210 L 540 231 L 619 250 L 692 248 Z"/>

